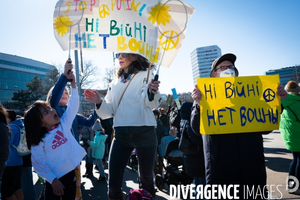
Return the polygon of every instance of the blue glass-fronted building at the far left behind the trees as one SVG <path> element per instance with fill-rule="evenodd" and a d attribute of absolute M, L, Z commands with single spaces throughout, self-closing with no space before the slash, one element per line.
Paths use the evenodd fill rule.
<path fill-rule="evenodd" d="M 15 109 L 14 92 L 27 87 L 36 75 L 45 80 L 46 73 L 53 66 L 20 56 L 0 53 L 0 102 L 7 109 Z"/>

